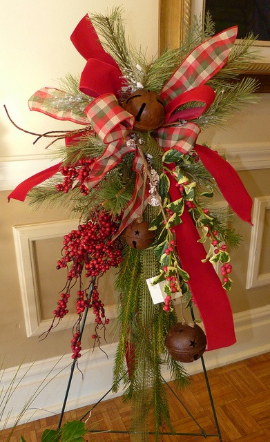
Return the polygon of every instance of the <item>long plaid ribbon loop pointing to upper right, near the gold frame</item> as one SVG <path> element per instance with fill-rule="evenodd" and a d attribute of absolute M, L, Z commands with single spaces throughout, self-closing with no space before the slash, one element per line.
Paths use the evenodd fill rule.
<path fill-rule="evenodd" d="M 237 26 L 228 28 L 193 49 L 163 86 L 165 102 L 211 79 L 226 64 L 237 31 Z"/>

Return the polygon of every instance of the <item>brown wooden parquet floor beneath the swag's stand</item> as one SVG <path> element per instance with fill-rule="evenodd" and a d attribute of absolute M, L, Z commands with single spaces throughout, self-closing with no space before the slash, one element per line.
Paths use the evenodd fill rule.
<path fill-rule="evenodd" d="M 170 392 L 171 421 L 175 431 L 201 435 L 163 435 L 162 442 L 270 441 L 270 353 L 210 370 L 208 377 L 222 439 L 219 436 L 203 436 L 200 428 Z M 169 385 L 173 387 L 173 383 Z M 203 373 L 191 376 L 191 385 L 184 389 L 180 398 L 206 434 L 217 434 Z M 90 406 L 66 412 L 64 421 L 81 419 L 89 409 Z M 26 442 L 39 442 L 42 432 L 47 427 L 56 428 L 58 421 L 59 416 L 53 416 L 18 427 L 11 440 L 19 442 L 19 434 L 23 434 Z M 123 403 L 121 397 L 104 401 L 95 407 L 87 425 L 92 430 L 129 430 L 130 405 Z M 102 432 L 88 434 L 85 440 L 129 442 L 130 437 L 128 434 Z M 149 440 L 152 442 L 153 436 L 150 435 Z M 6 441 L 4 434 L 0 436 L 0 441 Z"/>

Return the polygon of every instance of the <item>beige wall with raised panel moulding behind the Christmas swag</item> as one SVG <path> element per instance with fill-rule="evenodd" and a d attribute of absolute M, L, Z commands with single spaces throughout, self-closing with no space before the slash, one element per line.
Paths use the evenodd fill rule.
<path fill-rule="evenodd" d="M 134 46 L 148 46 L 148 56 L 157 51 L 157 0 L 133 3 L 121 2 L 126 9 L 128 23 L 127 32 L 131 35 Z M 12 0 L 2 6 L 1 41 L 9 41 L 3 47 L 1 70 L 1 104 L 6 104 L 15 121 L 29 130 L 45 131 L 59 127 L 59 122 L 44 115 L 29 113 L 27 100 L 30 95 L 42 86 L 56 86 L 55 79 L 66 73 L 79 73 L 84 61 L 70 44 L 69 35 L 77 22 L 88 11 L 104 12 L 115 5 L 115 1 L 93 0 L 80 1 L 47 1 L 41 3 L 31 0 L 22 2 Z M 268 152 L 269 157 L 269 95 L 262 95 L 259 104 L 254 105 L 232 119 L 227 131 L 211 128 L 201 135 L 200 141 L 207 141 L 220 152 L 226 151 L 229 158 L 242 157 L 245 149 L 258 149 Z M 1 164 L 10 164 L 25 160 L 39 160 L 46 157 L 44 144 L 32 146 L 30 135 L 13 128 L 3 114 L 0 115 L 0 168 Z M 66 128 L 66 124 L 64 124 Z M 63 126 L 61 126 L 63 128 Z M 259 160 L 259 157 L 258 157 Z M 21 164 L 21 163 L 20 163 Z M 269 166 L 267 169 L 256 169 L 252 161 L 251 167 L 240 166 L 239 173 L 247 190 L 253 198 L 270 195 Z M 255 169 L 254 169 L 255 167 Z M 238 168 L 239 169 L 239 168 Z M 246 170 L 244 170 L 246 169 Z M 1 184 L 1 180 L 0 180 Z M 0 189 L 0 273 L 1 273 L 1 356 L 8 358 L 8 366 L 19 365 L 24 357 L 26 361 L 42 360 L 52 356 L 61 356 L 70 352 L 71 330 L 64 329 L 54 332 L 46 340 L 39 342 L 37 336 L 26 336 L 19 276 L 15 256 L 15 242 L 12 227 L 21 224 L 55 222 L 66 220 L 67 215 L 62 209 L 42 209 L 30 211 L 26 204 L 12 201 L 7 203 L 8 189 Z M 6 190 L 3 190 L 6 189 Z M 269 197 L 270 198 L 270 197 Z M 268 305 L 269 285 L 256 289 L 245 289 L 247 261 L 249 258 L 249 241 L 251 227 L 238 222 L 236 229 L 243 237 L 240 249 L 231 253 L 233 264 L 233 289 L 231 304 L 234 312 L 245 311 L 255 307 Z M 264 270 L 269 271 L 269 217 L 267 217 L 267 245 L 263 249 Z M 59 256 L 61 238 L 39 241 L 36 245 L 39 273 L 39 297 L 41 298 L 41 314 L 44 319 L 50 316 L 54 303 L 61 291 L 64 276 L 55 270 L 55 260 Z M 101 297 L 106 302 L 115 302 L 113 293 L 113 272 L 102 280 Z M 86 335 L 92 334 L 93 325 L 88 326 Z M 108 334 L 108 342 L 113 339 L 113 328 Z M 86 337 L 85 347 L 90 347 L 91 340 Z"/>

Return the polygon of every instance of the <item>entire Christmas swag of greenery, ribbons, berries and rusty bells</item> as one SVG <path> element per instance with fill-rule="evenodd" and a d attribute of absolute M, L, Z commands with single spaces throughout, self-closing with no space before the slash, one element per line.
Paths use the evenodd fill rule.
<path fill-rule="evenodd" d="M 66 204 L 81 220 L 64 237 L 57 262 L 67 269 L 67 283 L 52 327 L 68 313 L 77 282 L 73 359 L 80 356 L 86 309 L 96 316 L 93 338 L 99 343 L 108 318 L 97 278 L 118 267 L 113 390 L 124 383 L 133 401 L 133 434 L 141 436 L 150 410 L 156 436 L 164 423 L 171 428 L 162 364 L 182 387 L 187 374 L 181 362 L 200 358 L 206 345 L 211 350 L 235 343 L 226 244 L 236 247 L 240 238 L 211 198 L 222 193 L 231 212 L 246 222 L 252 201 L 231 165 L 209 145 L 197 144 L 197 137 L 253 101 L 256 82 L 239 79 L 253 59 L 253 39 L 235 45 L 236 35 L 237 27 L 215 35 L 206 17 L 203 31 L 195 21 L 180 48 L 148 63 L 142 52 L 128 48 L 120 8 L 86 15 L 71 35 L 86 59 L 81 76 L 67 75 L 59 89 L 41 88 L 29 100 L 32 111 L 81 125 L 34 134 L 53 137 L 50 145 L 65 140 L 57 148 L 61 162 L 9 196 L 28 195 L 35 206 Z M 185 322 L 182 310 L 179 322 L 175 296 L 197 306 L 206 338 L 197 324 Z"/>

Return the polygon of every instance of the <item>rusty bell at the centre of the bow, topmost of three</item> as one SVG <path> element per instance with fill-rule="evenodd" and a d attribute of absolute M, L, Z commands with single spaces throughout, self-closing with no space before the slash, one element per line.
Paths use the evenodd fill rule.
<path fill-rule="evenodd" d="M 137 131 L 153 131 L 164 123 L 165 102 L 153 90 L 135 90 L 124 101 L 122 107 L 134 115 L 134 128 Z"/>

